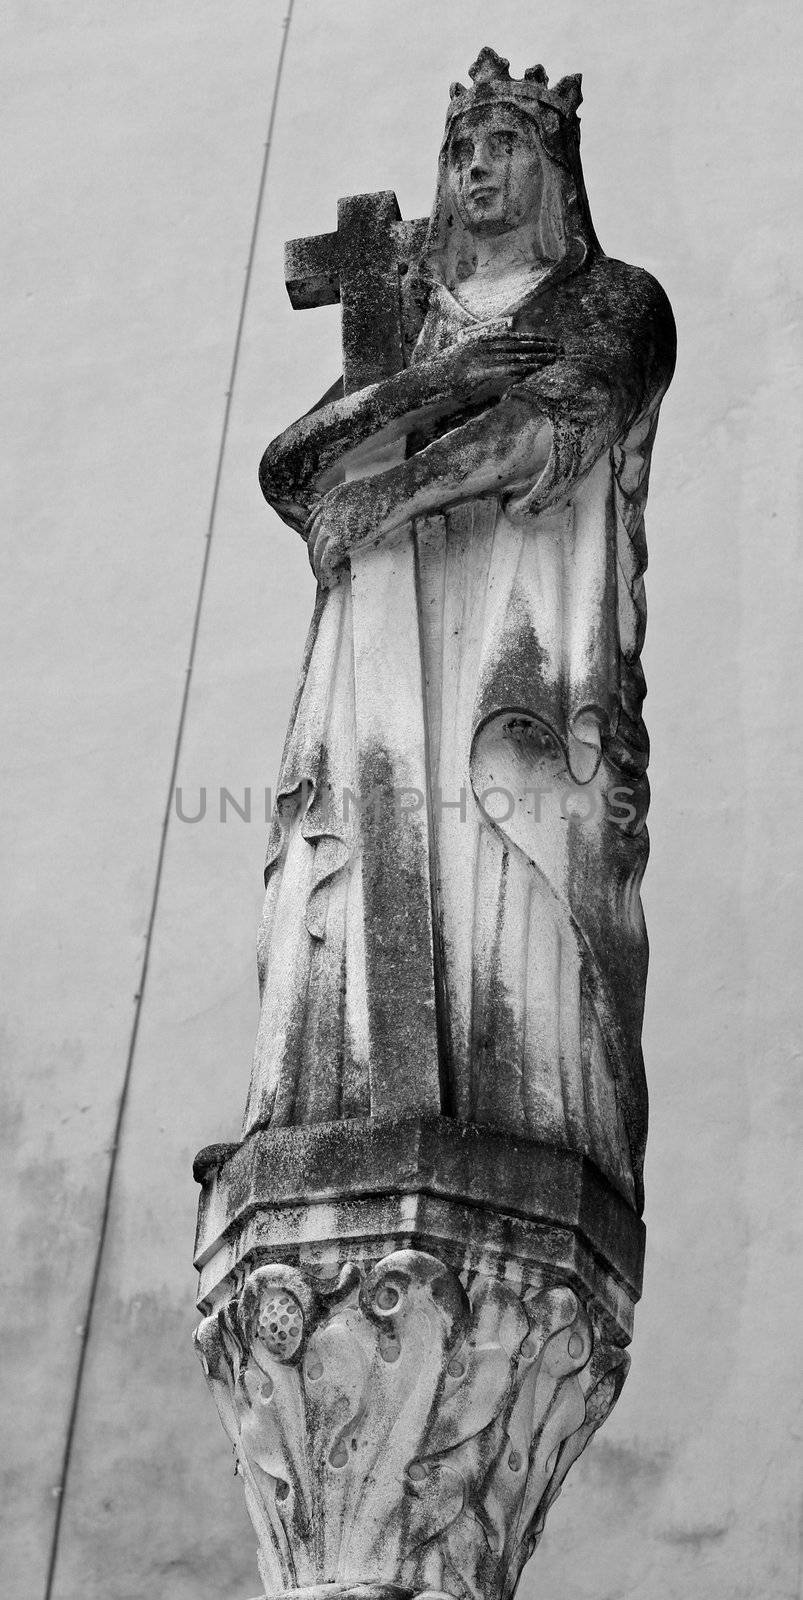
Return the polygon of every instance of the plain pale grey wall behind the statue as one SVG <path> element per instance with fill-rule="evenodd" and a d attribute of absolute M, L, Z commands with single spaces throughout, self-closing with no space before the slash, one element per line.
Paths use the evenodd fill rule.
<path fill-rule="evenodd" d="M 523 1595 L 800 1594 L 793 10 L 5 10 L 10 1600 L 259 1587 L 189 1341 L 190 1163 L 238 1131 L 261 797 L 314 594 L 256 464 L 338 373 L 338 315 L 290 310 L 282 242 L 331 227 L 339 194 L 425 213 L 448 83 L 486 42 L 517 72 L 584 70 L 598 234 L 680 328 L 649 502 L 645 1299 Z M 174 782 L 187 814 L 206 789 L 203 819 L 179 821 Z M 250 824 L 219 821 L 222 786 L 251 789 Z"/>

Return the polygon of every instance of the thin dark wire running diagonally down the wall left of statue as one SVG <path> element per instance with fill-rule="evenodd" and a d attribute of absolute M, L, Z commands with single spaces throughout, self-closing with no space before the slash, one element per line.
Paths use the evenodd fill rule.
<path fill-rule="evenodd" d="M 62 1462 L 61 1462 L 61 1483 L 58 1486 L 58 1506 L 56 1506 L 56 1518 L 54 1518 L 54 1523 L 53 1523 L 53 1539 L 51 1539 L 51 1546 L 50 1546 L 50 1562 L 48 1562 L 48 1578 L 46 1578 L 46 1586 L 45 1586 L 45 1600 L 53 1600 L 53 1584 L 54 1584 L 54 1578 L 56 1578 L 56 1563 L 58 1563 L 58 1554 L 59 1554 L 64 1499 L 66 1499 L 67 1478 L 69 1478 L 69 1470 L 70 1470 L 70 1462 L 72 1462 L 72 1446 L 74 1446 L 74 1442 L 75 1442 L 75 1424 L 77 1424 L 77 1418 L 78 1418 L 78 1405 L 80 1405 L 82 1387 L 83 1387 L 83 1373 L 85 1373 L 85 1366 L 86 1366 L 86 1349 L 88 1349 L 88 1344 L 90 1344 L 90 1334 L 91 1334 L 91 1325 L 93 1325 L 93 1314 L 94 1314 L 94 1302 L 98 1299 L 98 1285 L 99 1285 L 99 1280 L 101 1280 L 101 1266 L 102 1266 L 102 1256 L 104 1256 L 104 1246 L 106 1246 L 106 1235 L 109 1232 L 109 1213 L 110 1213 L 110 1205 L 112 1205 L 112 1189 L 114 1189 L 114 1179 L 115 1179 L 115 1171 L 117 1171 L 117 1157 L 118 1157 L 118 1152 L 120 1152 L 120 1136 L 122 1136 L 122 1130 L 123 1130 L 123 1118 L 125 1118 L 125 1107 L 126 1107 L 126 1101 L 128 1101 L 128 1090 L 131 1086 L 131 1067 L 133 1067 L 133 1062 L 134 1062 L 136 1042 L 138 1042 L 138 1035 L 139 1035 L 139 1019 L 141 1019 L 141 1014 L 142 1014 L 142 998 L 144 998 L 144 994 L 146 994 L 147 970 L 149 970 L 149 965 L 150 965 L 150 946 L 152 946 L 152 941 L 154 941 L 154 925 L 155 925 L 155 920 L 157 920 L 158 894 L 160 894 L 160 888 L 162 888 L 162 870 L 163 870 L 163 866 L 165 866 L 165 846 L 166 846 L 166 838 L 168 838 L 170 818 L 171 818 L 171 811 L 173 811 L 173 794 L 174 794 L 174 789 L 176 789 L 176 776 L 178 776 L 178 770 L 179 770 L 181 747 L 182 747 L 182 741 L 184 741 L 184 726 L 186 726 L 186 722 L 187 722 L 187 706 L 189 706 L 189 693 L 190 693 L 190 682 L 192 682 L 192 669 L 195 666 L 195 651 L 197 651 L 197 645 L 198 645 L 200 616 L 202 616 L 203 597 L 205 597 L 205 590 L 206 590 L 206 576 L 208 576 L 208 571 L 210 571 L 211 538 L 213 538 L 213 533 L 214 533 L 214 522 L 216 522 L 216 517 L 218 517 L 218 501 L 219 501 L 219 493 L 221 493 L 222 464 L 224 464 L 226 445 L 227 445 L 227 438 L 229 438 L 229 422 L 230 422 L 230 416 L 232 416 L 232 395 L 234 395 L 234 386 L 235 386 L 235 381 L 237 381 L 237 370 L 238 370 L 238 365 L 240 365 L 240 349 L 242 349 L 242 342 L 243 342 L 245 314 L 246 314 L 246 307 L 248 307 L 248 294 L 250 294 L 250 290 L 251 290 L 251 275 L 253 275 L 253 267 L 254 267 L 256 242 L 258 242 L 258 237 L 259 237 L 259 222 L 261 222 L 261 216 L 262 216 L 262 200 L 264 200 L 266 182 L 267 182 L 267 165 L 269 165 L 269 158 L 270 158 L 270 146 L 272 146 L 272 139 L 274 139 L 274 126 L 275 126 L 275 120 L 277 120 L 278 90 L 280 90 L 280 85 L 282 85 L 282 72 L 283 72 L 283 67 L 285 67 L 285 53 L 286 53 L 286 43 L 288 43 L 288 34 L 290 34 L 290 22 L 291 22 L 291 18 L 293 18 L 293 6 L 294 6 L 294 0 L 288 0 L 286 16 L 283 18 L 283 22 L 282 22 L 282 46 L 280 46 L 280 51 L 278 51 L 277 72 L 275 72 L 275 78 L 274 78 L 274 94 L 272 94 L 272 101 L 270 101 L 270 114 L 269 114 L 269 118 L 267 118 L 267 138 L 266 138 L 264 152 L 262 152 L 262 170 L 259 173 L 259 187 L 258 187 L 258 194 L 256 194 L 254 219 L 253 219 L 253 226 L 251 226 L 251 240 L 250 240 L 250 246 L 248 246 L 248 262 L 246 262 L 246 269 L 245 269 L 243 293 L 242 293 L 242 299 L 240 299 L 240 315 L 237 318 L 237 333 L 235 333 L 235 339 L 234 339 L 232 366 L 230 366 L 230 373 L 229 373 L 229 387 L 226 390 L 226 408 L 224 408 L 224 414 L 222 414 L 221 443 L 219 443 L 219 448 L 218 448 L 218 464 L 216 464 L 216 469 L 214 469 L 214 486 L 213 486 L 213 494 L 211 494 L 211 502 L 210 502 L 210 518 L 208 518 L 208 523 L 206 523 L 206 539 L 205 539 L 205 547 L 203 547 L 203 563 L 202 563 L 202 573 L 200 573 L 200 582 L 198 582 L 198 595 L 197 595 L 197 602 L 195 602 L 195 616 L 194 616 L 194 622 L 192 622 L 192 635 L 190 635 L 190 648 L 189 648 L 187 667 L 186 667 L 186 672 L 184 672 L 184 693 L 182 693 L 182 698 L 181 698 L 181 710 L 179 710 L 179 720 L 178 720 L 178 728 L 176 728 L 176 741 L 174 741 L 174 747 L 173 747 L 173 765 L 171 765 L 171 770 L 170 770 L 168 795 L 166 795 L 166 802 L 165 802 L 165 813 L 163 813 L 163 818 L 162 818 L 162 837 L 160 837 L 160 843 L 158 843 L 157 870 L 155 870 L 155 877 L 154 877 L 154 893 L 152 893 L 152 898 L 150 898 L 150 915 L 149 915 L 149 920 L 147 920 L 146 946 L 144 946 L 144 952 L 142 952 L 142 966 L 141 966 L 141 971 L 139 971 L 139 987 L 138 987 L 138 992 L 134 995 L 134 1016 L 133 1016 L 133 1022 L 131 1022 L 131 1037 L 130 1037 L 130 1042 L 128 1042 L 128 1056 L 126 1056 L 126 1064 L 125 1064 L 123 1085 L 122 1085 L 122 1090 L 120 1090 L 120 1101 L 118 1101 L 118 1106 L 117 1106 L 117 1118 L 115 1118 L 114 1139 L 112 1139 L 112 1147 L 110 1147 L 110 1152 L 109 1152 L 109 1171 L 107 1171 L 107 1178 L 106 1178 L 106 1194 L 104 1194 L 104 1205 L 102 1205 L 102 1213 L 101 1213 L 101 1230 L 98 1234 L 98 1246 L 96 1246 L 96 1253 L 94 1253 L 94 1266 L 93 1266 L 93 1275 L 91 1275 L 91 1282 L 90 1282 L 90 1294 L 88 1294 L 88 1301 L 86 1301 L 86 1315 L 83 1318 L 83 1328 L 82 1328 L 82 1344 L 80 1344 L 80 1352 L 78 1352 L 78 1366 L 77 1366 L 77 1371 L 75 1371 L 75 1387 L 74 1387 L 74 1392 L 72 1392 L 72 1405 L 70 1405 L 70 1414 L 69 1414 L 69 1421 L 67 1421 L 67 1437 L 66 1437 L 66 1442 L 64 1442 L 64 1456 L 62 1456 Z"/>

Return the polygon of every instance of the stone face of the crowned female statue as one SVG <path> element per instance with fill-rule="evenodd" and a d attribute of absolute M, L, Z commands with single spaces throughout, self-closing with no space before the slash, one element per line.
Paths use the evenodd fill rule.
<path fill-rule="evenodd" d="M 505 234 L 537 216 L 542 168 L 536 133 L 504 106 L 459 118 L 448 147 L 454 205 L 472 234 Z"/>

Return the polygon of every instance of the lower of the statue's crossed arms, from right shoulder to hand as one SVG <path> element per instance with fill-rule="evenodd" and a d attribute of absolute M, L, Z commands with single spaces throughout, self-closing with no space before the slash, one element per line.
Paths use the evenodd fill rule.
<path fill-rule="evenodd" d="M 461 501 L 497 494 L 513 510 L 555 504 L 669 384 L 672 314 L 648 274 L 605 262 L 597 280 L 573 286 L 550 323 L 566 338 L 560 358 L 509 379 L 496 405 L 400 466 L 325 496 L 307 523 L 323 582 L 354 546 L 381 542 Z"/>

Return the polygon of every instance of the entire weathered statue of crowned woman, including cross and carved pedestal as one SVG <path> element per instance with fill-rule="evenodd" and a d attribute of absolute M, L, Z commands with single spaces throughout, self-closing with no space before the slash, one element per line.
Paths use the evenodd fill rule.
<path fill-rule="evenodd" d="M 593 234 L 579 77 L 488 48 L 470 77 L 429 222 L 362 195 L 288 246 L 344 379 L 261 467 L 318 597 L 243 1142 L 198 1158 L 200 1347 L 274 1589 L 510 1594 L 640 1288 L 673 322 Z"/>

